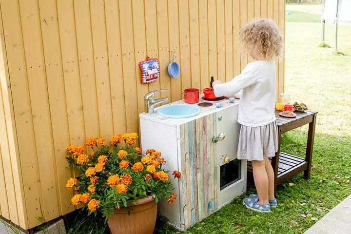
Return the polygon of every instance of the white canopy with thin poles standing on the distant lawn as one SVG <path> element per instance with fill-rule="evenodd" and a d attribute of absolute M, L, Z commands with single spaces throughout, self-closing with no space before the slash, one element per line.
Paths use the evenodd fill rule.
<path fill-rule="evenodd" d="M 324 0 L 322 10 L 322 43 L 324 43 L 325 22 L 335 25 L 334 52 L 337 51 L 337 25 L 351 23 L 351 0 Z"/>

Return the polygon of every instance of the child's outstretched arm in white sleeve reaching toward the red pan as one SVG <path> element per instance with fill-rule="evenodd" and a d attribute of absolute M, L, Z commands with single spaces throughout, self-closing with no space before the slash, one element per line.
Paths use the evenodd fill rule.
<path fill-rule="evenodd" d="M 256 81 L 257 68 L 252 64 L 248 64 L 242 73 L 235 77 L 232 81 L 223 84 L 215 84 L 213 86 L 216 97 L 240 95 L 242 89 L 252 85 Z M 240 97 L 237 97 L 240 98 Z"/>

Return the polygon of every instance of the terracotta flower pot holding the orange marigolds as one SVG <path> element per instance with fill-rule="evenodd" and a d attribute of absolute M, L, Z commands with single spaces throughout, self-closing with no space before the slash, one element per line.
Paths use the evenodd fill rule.
<path fill-rule="evenodd" d="M 128 215 L 126 208 L 115 209 L 107 219 L 112 234 L 153 234 L 157 216 L 157 205 L 152 196 L 139 199 L 131 205 Z"/>

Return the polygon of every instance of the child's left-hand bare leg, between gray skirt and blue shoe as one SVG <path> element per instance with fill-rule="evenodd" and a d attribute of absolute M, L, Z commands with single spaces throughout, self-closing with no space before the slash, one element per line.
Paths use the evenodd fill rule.
<path fill-rule="evenodd" d="M 266 171 L 265 161 L 252 161 L 253 172 L 254 172 L 254 182 L 258 195 L 258 204 L 266 205 L 268 204 L 268 175 Z"/>

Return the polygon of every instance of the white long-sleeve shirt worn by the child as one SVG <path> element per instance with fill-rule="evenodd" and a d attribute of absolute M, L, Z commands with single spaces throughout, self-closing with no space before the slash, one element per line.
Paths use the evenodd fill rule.
<path fill-rule="evenodd" d="M 240 98 L 238 122 L 249 127 L 264 126 L 275 120 L 275 61 L 254 61 L 232 81 L 214 86 L 215 96 Z"/>

